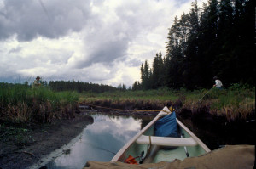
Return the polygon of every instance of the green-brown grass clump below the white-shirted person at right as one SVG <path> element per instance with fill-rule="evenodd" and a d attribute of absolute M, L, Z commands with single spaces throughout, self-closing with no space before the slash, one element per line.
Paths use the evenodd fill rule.
<path fill-rule="evenodd" d="M 187 93 L 183 107 L 192 112 L 207 107 L 212 115 L 224 115 L 228 121 L 247 119 L 255 114 L 255 87 L 231 86 L 223 90 L 212 88 L 210 92 L 201 90 Z"/>

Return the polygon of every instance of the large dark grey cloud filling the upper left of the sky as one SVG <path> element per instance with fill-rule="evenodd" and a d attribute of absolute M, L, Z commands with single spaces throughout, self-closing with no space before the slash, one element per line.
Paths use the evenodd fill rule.
<path fill-rule="evenodd" d="M 90 16 L 90 1 L 5 0 L 2 9 L 0 40 L 17 35 L 19 41 L 31 41 L 80 31 Z"/>

